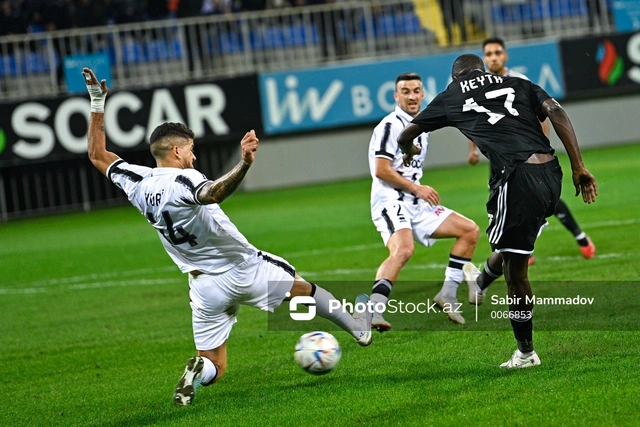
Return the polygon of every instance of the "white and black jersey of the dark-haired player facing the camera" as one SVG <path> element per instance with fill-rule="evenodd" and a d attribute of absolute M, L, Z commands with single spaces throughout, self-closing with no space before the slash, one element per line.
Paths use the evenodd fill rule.
<path fill-rule="evenodd" d="M 422 152 L 411 160 L 410 166 L 402 163 L 402 150 L 398 147 L 398 136 L 406 125 L 411 123 L 413 117 L 396 106 L 396 109 L 387 115 L 373 130 L 371 141 L 369 142 L 369 171 L 373 178 L 371 185 L 371 211 L 377 212 L 382 207 L 392 201 L 402 201 L 404 203 L 417 204 L 418 197 L 412 193 L 395 189 L 389 184 L 376 177 L 376 158 L 391 160 L 391 167 L 398 171 L 400 175 L 420 184 L 422 178 L 422 165 L 427 155 L 429 145 L 429 135 L 421 134 L 415 140 L 422 144 Z"/>

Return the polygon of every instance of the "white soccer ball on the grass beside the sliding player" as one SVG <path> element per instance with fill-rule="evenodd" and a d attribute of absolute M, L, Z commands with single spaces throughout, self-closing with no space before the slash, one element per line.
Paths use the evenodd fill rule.
<path fill-rule="evenodd" d="M 340 361 L 342 350 L 338 340 L 328 332 L 309 332 L 296 343 L 293 357 L 302 369 L 313 375 L 331 372 Z"/>

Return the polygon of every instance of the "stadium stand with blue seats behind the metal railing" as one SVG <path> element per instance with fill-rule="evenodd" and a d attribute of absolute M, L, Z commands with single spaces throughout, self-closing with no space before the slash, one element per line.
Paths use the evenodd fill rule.
<path fill-rule="evenodd" d="M 612 27 L 610 14 L 601 17 L 599 28 L 590 24 L 593 1 L 467 0 L 468 25 L 474 31 L 463 42 L 477 43 L 487 34 L 517 40 L 607 31 Z M 6 9 L 11 3 L 3 0 L 0 5 Z M 21 7 L 27 3 L 15 2 Z M 446 46 L 439 38 L 443 30 L 435 3 L 347 1 L 168 20 L 150 20 L 140 6 L 129 15 L 117 12 L 105 17 L 105 22 L 118 22 L 117 17 L 146 19 L 139 23 L 0 37 L 0 96 L 11 100 L 39 95 L 32 91 L 38 85 L 20 81 L 25 77 L 53 82 L 51 95 L 65 93 L 62 59 L 96 52 L 108 52 L 113 84 L 129 88 L 142 84 L 133 78 L 141 67 L 148 75 L 146 84 L 158 84 L 436 51 Z M 426 14 L 419 13 L 421 8 Z M 152 15 L 165 16 L 157 11 Z M 158 66 L 148 66 L 152 64 Z"/>

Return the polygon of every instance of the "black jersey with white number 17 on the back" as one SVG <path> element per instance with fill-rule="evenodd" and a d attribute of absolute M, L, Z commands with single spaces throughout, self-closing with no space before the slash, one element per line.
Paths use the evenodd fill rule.
<path fill-rule="evenodd" d="M 528 80 L 474 70 L 451 82 L 412 123 L 424 132 L 458 128 L 489 159 L 492 181 L 502 181 L 533 153 L 554 153 L 540 126 L 548 98 Z"/>

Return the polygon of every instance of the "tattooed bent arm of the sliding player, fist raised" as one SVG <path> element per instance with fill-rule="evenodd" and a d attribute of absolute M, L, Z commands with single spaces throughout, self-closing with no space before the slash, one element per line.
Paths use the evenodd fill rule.
<path fill-rule="evenodd" d="M 206 183 L 198 193 L 198 201 L 203 205 L 222 203 L 236 191 L 255 160 L 259 142 L 254 130 L 247 132 L 240 142 L 242 160 L 226 175 Z"/>

